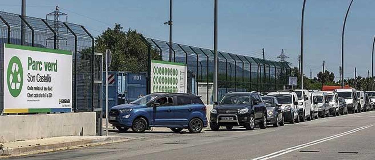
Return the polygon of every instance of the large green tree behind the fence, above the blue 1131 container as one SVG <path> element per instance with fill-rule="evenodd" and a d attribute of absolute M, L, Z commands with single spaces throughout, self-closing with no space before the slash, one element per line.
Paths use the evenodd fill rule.
<path fill-rule="evenodd" d="M 136 30 L 123 31 L 120 24 L 107 28 L 95 37 L 95 52 L 105 53 L 110 49 L 112 53 L 110 71 L 147 71 L 147 46 L 140 39 L 141 34 Z M 91 57 L 91 49 L 81 52 L 81 59 Z M 159 51 L 151 48 L 151 59 L 161 59 Z"/>

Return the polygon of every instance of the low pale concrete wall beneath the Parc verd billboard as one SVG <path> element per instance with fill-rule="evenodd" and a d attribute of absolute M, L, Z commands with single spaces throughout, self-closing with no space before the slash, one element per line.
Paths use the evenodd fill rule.
<path fill-rule="evenodd" d="M 95 112 L 0 116 L 0 141 L 95 135 Z"/>

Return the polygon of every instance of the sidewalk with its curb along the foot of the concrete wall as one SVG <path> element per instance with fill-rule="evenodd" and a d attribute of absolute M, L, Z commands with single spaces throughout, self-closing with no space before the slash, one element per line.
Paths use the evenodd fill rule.
<path fill-rule="evenodd" d="M 0 158 L 131 141 L 123 136 L 62 136 L 0 144 Z"/>

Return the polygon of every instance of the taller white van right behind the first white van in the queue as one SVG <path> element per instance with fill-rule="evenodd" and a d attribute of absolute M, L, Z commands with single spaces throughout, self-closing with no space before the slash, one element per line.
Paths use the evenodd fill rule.
<path fill-rule="evenodd" d="M 298 97 L 298 108 L 299 116 L 301 121 L 312 120 L 313 115 L 311 114 L 311 97 L 309 91 L 306 89 L 296 89 L 294 92 Z"/>

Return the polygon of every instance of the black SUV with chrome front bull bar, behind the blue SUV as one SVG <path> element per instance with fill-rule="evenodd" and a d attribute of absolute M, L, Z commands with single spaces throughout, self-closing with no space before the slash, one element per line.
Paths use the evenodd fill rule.
<path fill-rule="evenodd" d="M 246 130 L 253 130 L 256 124 L 261 129 L 267 126 L 267 108 L 258 93 L 229 92 L 214 104 L 210 116 L 211 130 L 217 131 L 220 126 L 226 129 L 244 126 Z"/>

